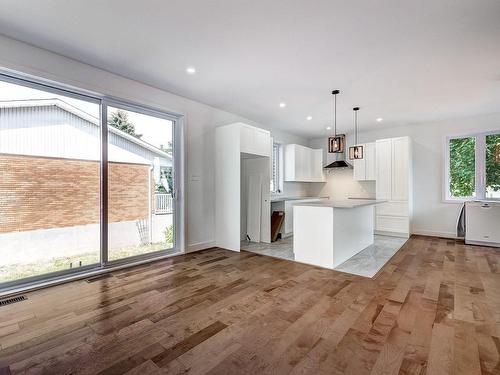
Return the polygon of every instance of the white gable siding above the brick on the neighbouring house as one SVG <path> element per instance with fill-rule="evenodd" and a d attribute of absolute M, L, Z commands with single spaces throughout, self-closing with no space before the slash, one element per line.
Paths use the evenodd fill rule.
<path fill-rule="evenodd" d="M 0 153 L 99 160 L 100 127 L 95 122 L 68 112 L 56 105 L 0 108 Z M 153 164 L 164 158 L 118 134 L 109 132 L 109 160 Z"/>

